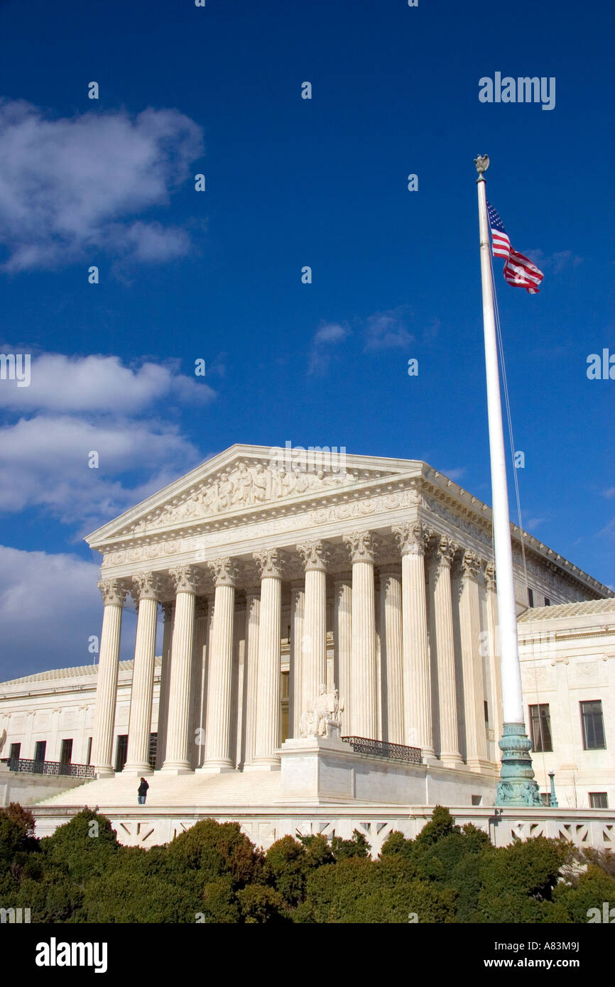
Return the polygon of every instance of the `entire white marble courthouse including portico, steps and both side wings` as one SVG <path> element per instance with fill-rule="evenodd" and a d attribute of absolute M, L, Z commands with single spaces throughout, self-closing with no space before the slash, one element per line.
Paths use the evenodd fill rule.
<path fill-rule="evenodd" d="M 66 703 L 47 696 L 49 673 L 0 687 L 4 757 L 22 740 L 20 756 L 37 757 L 28 748 L 45 742 L 46 717 L 45 756 L 62 760 L 75 738 L 73 763 L 97 776 L 38 800 L 38 831 L 97 804 L 119 839 L 143 846 L 212 815 L 239 820 L 262 846 L 358 828 L 376 853 L 392 829 L 418 832 L 440 802 L 496 842 L 544 832 L 612 846 L 614 779 L 598 734 L 615 716 L 614 594 L 514 526 L 511 537 L 537 781 L 547 798 L 548 769 L 568 771 L 579 793 L 567 791 L 570 807 L 493 807 L 502 718 L 487 504 L 421 461 L 346 456 L 341 468 L 318 452 L 295 461 L 288 449 L 236 445 L 87 539 L 103 556 L 96 691 L 84 668 L 72 677 L 79 699 Z M 570 648 L 582 652 L 566 605 L 589 608 L 581 631 L 585 619 L 602 623 L 595 682 L 575 672 L 565 722 L 556 699 L 567 655 L 543 654 L 538 667 L 535 634 L 553 626 L 558 638 L 553 613 L 569 628 L 557 646 L 569 661 Z M 120 662 L 127 607 L 134 657 Z M 598 746 L 581 750 L 581 731 Z M 135 784 L 146 774 L 145 808 Z"/>

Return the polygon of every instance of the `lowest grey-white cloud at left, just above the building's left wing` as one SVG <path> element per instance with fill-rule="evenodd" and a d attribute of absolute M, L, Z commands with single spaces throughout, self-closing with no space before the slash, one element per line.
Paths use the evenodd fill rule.
<path fill-rule="evenodd" d="M 92 664 L 103 607 L 99 567 L 70 554 L 0 546 L 0 680 L 47 668 Z M 131 658 L 134 616 L 122 622 L 122 658 Z"/>

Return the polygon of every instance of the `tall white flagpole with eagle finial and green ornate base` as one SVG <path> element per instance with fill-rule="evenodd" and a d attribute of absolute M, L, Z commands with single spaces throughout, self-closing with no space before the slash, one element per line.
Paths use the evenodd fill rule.
<path fill-rule="evenodd" d="M 481 281 L 483 286 L 483 325 L 485 329 L 485 370 L 487 376 L 487 414 L 491 454 L 494 555 L 500 624 L 501 696 L 503 732 L 500 739 L 501 772 L 496 805 L 542 805 L 534 781 L 531 741 L 525 732 L 521 666 L 516 632 L 516 604 L 512 574 L 508 486 L 501 418 L 500 366 L 496 337 L 496 314 L 492 282 L 491 243 L 487 217 L 485 172 L 487 155 L 474 162 L 479 173 L 479 228 L 481 242 Z M 494 643 L 495 644 L 495 643 Z"/>

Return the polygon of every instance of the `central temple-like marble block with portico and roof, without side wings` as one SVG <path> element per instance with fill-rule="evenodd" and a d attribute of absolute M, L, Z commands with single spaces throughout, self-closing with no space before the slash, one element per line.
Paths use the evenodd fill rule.
<path fill-rule="evenodd" d="M 493 805 L 501 682 L 491 509 L 421 461 L 347 455 L 340 465 L 326 453 L 289 461 L 288 449 L 235 445 L 89 536 L 103 555 L 104 614 L 98 781 L 79 790 L 88 804 L 124 804 L 134 785 L 121 780 L 147 774 L 150 793 L 167 794 L 161 811 L 165 798 L 193 807 L 209 792 L 218 818 L 245 815 L 248 799 L 259 811 L 268 802 L 269 823 L 272 808 L 296 809 L 301 797 L 338 812 L 378 804 L 381 814 L 385 803 Z M 613 596 L 514 526 L 512 540 L 519 614 Z M 130 605 L 138 617 L 118 763 Z M 335 715 L 306 729 L 319 694 Z M 48 801 L 51 813 L 75 797 Z"/>

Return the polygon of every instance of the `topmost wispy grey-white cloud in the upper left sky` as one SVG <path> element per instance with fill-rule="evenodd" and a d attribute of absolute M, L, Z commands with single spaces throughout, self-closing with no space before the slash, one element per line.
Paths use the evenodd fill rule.
<path fill-rule="evenodd" d="M 169 204 L 203 152 L 176 110 L 51 119 L 0 100 L 0 243 L 7 271 L 58 267 L 96 251 L 156 263 L 190 249 L 188 233 L 136 219 Z"/>

